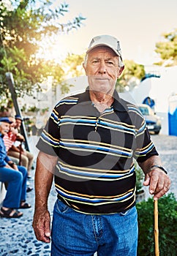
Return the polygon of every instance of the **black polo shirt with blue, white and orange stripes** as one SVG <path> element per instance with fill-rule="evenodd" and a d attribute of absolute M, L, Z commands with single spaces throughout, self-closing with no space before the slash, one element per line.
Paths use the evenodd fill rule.
<path fill-rule="evenodd" d="M 86 214 L 113 214 L 135 206 L 134 158 L 158 155 L 135 105 L 113 94 L 99 113 L 89 97 L 65 97 L 56 104 L 37 143 L 58 156 L 55 186 L 59 199 Z"/>

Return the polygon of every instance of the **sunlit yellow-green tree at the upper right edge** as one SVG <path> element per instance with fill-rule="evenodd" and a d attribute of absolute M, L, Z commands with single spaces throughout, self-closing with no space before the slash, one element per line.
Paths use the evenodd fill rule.
<path fill-rule="evenodd" d="M 163 42 L 157 42 L 156 53 L 162 61 L 155 63 L 157 65 L 175 66 L 177 65 L 177 29 L 169 33 L 162 34 Z"/>

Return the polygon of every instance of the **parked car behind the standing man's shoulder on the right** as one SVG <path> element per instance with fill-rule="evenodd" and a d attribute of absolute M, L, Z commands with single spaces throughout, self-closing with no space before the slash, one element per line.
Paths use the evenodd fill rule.
<path fill-rule="evenodd" d="M 149 132 L 154 132 L 156 135 L 158 135 L 160 132 L 160 129 L 162 128 L 160 117 L 157 116 L 156 113 L 154 113 L 154 110 L 152 110 L 146 104 L 139 104 L 138 108 L 140 109 L 140 112 L 145 117 Z"/>

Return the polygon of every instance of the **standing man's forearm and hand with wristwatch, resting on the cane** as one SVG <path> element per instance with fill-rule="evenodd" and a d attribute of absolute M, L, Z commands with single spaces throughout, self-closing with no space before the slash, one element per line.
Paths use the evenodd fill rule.
<path fill-rule="evenodd" d="M 170 178 L 159 167 L 152 167 L 153 165 L 161 166 L 161 160 L 159 156 L 149 157 L 144 162 L 138 162 L 138 165 L 143 169 L 145 173 L 144 186 L 149 186 L 149 192 L 154 195 L 154 200 L 158 200 L 159 197 L 165 195 L 170 189 Z"/>

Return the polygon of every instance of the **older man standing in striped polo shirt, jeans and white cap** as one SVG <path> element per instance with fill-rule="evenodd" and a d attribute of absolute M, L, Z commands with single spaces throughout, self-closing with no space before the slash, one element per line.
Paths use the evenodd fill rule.
<path fill-rule="evenodd" d="M 83 68 L 89 87 L 53 109 L 37 143 L 34 232 L 50 242 L 48 195 L 55 177 L 51 255 L 137 255 L 134 158 L 154 200 L 170 179 L 132 103 L 115 90 L 124 69 L 118 39 L 94 37 Z"/>

